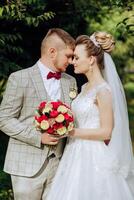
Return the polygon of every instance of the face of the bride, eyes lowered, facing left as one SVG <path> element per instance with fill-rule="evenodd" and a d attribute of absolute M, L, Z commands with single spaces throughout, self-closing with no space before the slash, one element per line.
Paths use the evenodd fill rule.
<path fill-rule="evenodd" d="M 89 71 L 89 57 L 83 44 L 75 47 L 73 65 L 76 74 L 86 74 Z"/>

